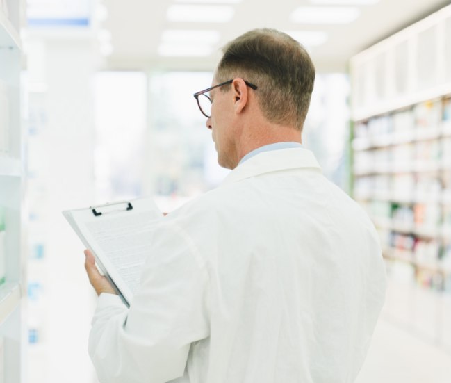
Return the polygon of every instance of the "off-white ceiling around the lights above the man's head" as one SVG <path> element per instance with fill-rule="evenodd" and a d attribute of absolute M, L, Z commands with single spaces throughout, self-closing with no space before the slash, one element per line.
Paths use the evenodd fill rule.
<path fill-rule="evenodd" d="M 113 51 L 105 58 L 105 67 L 213 70 L 220 57 L 220 47 L 226 42 L 250 29 L 268 27 L 282 31 L 325 32 L 327 34 L 325 43 L 308 47 L 313 62 L 318 72 L 344 71 L 347 68 L 347 60 L 357 52 L 451 3 L 450 0 L 379 0 L 378 2 L 366 0 L 372 4 L 358 6 L 359 17 L 348 24 L 297 24 L 290 19 L 290 13 L 295 8 L 325 7 L 325 5 L 317 4 L 325 0 L 242 0 L 232 5 L 234 14 L 230 22 L 168 21 L 167 8 L 173 4 L 186 5 L 186 1 L 99 0 L 101 5 L 104 4 L 107 12 L 104 9 L 101 15 L 104 21 L 97 22 L 97 25 L 100 29 L 110 31 L 110 43 L 113 47 Z M 199 4 L 204 1 L 192 0 L 191 3 Z M 326 1 L 329 3 L 353 2 L 353 0 Z M 223 0 L 222 5 L 224 3 L 227 3 L 227 0 Z M 220 38 L 212 45 L 212 53 L 208 56 L 163 57 L 158 54 L 158 46 L 165 29 L 214 30 L 219 32 Z"/>

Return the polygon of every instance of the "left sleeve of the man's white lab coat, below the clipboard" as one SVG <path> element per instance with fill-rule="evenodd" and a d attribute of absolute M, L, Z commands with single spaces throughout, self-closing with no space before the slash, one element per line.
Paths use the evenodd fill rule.
<path fill-rule="evenodd" d="M 209 334 L 208 273 L 183 229 L 161 225 L 129 309 L 101 294 L 89 352 L 101 383 L 161 383 L 183 375 L 190 343 Z"/>

